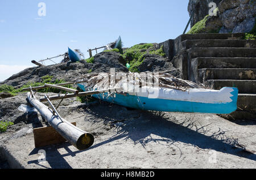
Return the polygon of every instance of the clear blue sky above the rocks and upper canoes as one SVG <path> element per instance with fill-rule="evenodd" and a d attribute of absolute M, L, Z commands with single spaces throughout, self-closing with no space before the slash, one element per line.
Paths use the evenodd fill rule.
<path fill-rule="evenodd" d="M 46 16 L 38 15 L 40 2 Z M 187 6 L 188 0 L 1 0 L 0 81 L 68 46 L 88 58 L 89 48 L 118 36 L 125 47 L 176 38 L 188 22 Z"/>

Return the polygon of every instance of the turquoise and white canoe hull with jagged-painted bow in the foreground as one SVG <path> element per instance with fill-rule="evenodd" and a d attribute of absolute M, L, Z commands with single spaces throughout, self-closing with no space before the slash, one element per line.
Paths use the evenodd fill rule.
<path fill-rule="evenodd" d="M 84 84 L 79 87 L 86 91 Z M 140 93 L 108 93 L 93 95 L 103 101 L 134 109 L 154 110 L 159 112 L 213 113 L 230 114 L 237 110 L 237 88 L 188 89 L 180 91 L 169 88 L 152 88 Z M 152 93 L 150 93 L 152 92 Z"/>

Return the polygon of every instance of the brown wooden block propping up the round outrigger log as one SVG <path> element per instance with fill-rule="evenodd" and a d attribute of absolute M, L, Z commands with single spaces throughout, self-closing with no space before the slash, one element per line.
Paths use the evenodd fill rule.
<path fill-rule="evenodd" d="M 76 122 L 72 125 L 76 126 Z M 34 128 L 35 148 L 67 142 L 52 126 Z"/>

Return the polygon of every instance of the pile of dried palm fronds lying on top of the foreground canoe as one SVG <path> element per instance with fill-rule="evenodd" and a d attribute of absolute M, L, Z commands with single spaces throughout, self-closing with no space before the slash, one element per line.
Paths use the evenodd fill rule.
<path fill-rule="evenodd" d="M 86 88 L 90 90 L 123 87 L 123 83 L 132 84 L 139 88 L 149 86 L 179 89 L 181 91 L 186 91 L 189 88 L 205 88 L 203 84 L 199 85 L 188 80 L 179 79 L 167 72 L 91 73 L 81 76 L 77 81 L 86 82 Z"/>

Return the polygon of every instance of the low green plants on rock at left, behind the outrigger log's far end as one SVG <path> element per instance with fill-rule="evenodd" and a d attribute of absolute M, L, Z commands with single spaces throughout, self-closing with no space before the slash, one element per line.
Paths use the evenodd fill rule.
<path fill-rule="evenodd" d="M 65 83 L 65 81 L 62 80 L 62 79 L 52 80 L 52 78 L 53 78 L 53 76 L 46 75 L 46 76 L 43 76 L 41 78 L 42 82 L 37 82 L 37 83 L 36 82 L 28 82 L 27 84 L 24 84 L 19 89 L 15 89 L 11 85 L 3 84 L 3 85 L 0 85 L 0 92 L 8 92 L 11 95 L 16 96 L 16 95 L 18 95 L 19 92 L 23 92 L 23 88 L 29 88 L 30 86 L 31 87 L 42 86 L 42 85 L 44 85 L 46 83 L 48 83 L 48 84 L 61 84 L 61 83 Z M 72 85 L 64 85 L 64 87 L 73 88 Z M 42 92 L 42 93 L 46 93 L 46 92 L 59 93 L 59 92 L 61 92 L 61 90 L 56 89 L 56 88 L 43 88 L 43 89 L 38 89 L 37 92 Z"/>

